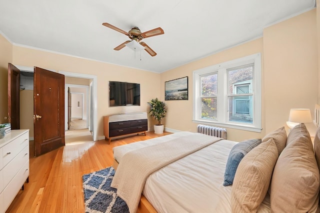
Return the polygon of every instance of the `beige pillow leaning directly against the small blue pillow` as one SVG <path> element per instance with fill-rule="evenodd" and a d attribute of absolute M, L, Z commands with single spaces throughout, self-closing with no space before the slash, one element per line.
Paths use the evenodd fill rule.
<path fill-rule="evenodd" d="M 232 212 L 256 212 L 268 190 L 277 157 L 276 144 L 270 138 L 242 158 L 231 190 Z"/>

